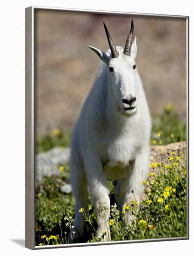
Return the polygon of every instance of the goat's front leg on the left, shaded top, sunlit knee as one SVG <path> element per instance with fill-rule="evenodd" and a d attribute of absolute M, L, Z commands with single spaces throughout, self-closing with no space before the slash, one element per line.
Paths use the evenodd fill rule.
<path fill-rule="evenodd" d="M 100 158 L 97 155 L 89 154 L 85 162 L 89 192 L 96 210 L 98 229 L 96 237 L 103 241 L 111 241 L 109 229 L 110 199 L 107 189 L 107 177 L 104 172 Z M 105 233 L 106 232 L 106 233 Z"/>

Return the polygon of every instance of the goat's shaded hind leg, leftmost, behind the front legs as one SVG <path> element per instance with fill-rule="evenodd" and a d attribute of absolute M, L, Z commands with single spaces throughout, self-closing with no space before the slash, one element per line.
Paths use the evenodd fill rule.
<path fill-rule="evenodd" d="M 84 216 L 80 209 L 87 210 L 88 192 L 87 179 L 85 171 L 82 166 L 76 163 L 71 163 L 70 181 L 72 185 L 72 192 L 75 198 L 75 221 L 74 229 L 70 231 L 68 242 L 78 242 L 84 233 Z"/>

